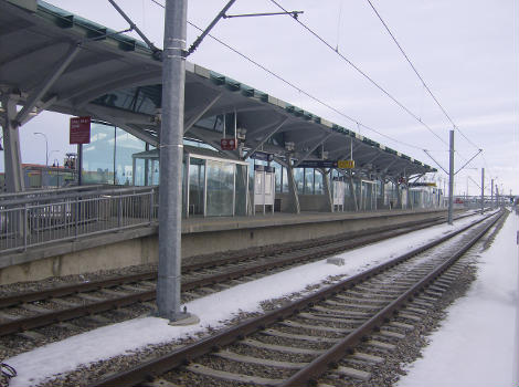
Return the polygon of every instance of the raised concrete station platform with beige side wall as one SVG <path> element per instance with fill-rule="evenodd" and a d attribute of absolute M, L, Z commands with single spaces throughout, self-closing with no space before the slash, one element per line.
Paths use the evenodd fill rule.
<path fill-rule="evenodd" d="M 445 209 L 370 212 L 268 213 L 254 217 L 191 217 L 182 221 L 182 259 L 225 251 L 306 241 L 431 220 Z M 158 261 L 157 222 L 0 251 L 0 284 L 114 270 Z"/>

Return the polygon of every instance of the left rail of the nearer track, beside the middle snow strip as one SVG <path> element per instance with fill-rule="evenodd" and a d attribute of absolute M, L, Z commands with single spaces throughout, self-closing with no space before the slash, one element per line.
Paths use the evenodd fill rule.
<path fill-rule="evenodd" d="M 275 311 L 267 312 L 264 315 L 258 317 L 250 318 L 243 323 L 240 323 L 235 326 L 223 330 L 212 336 L 202 338 L 195 343 L 188 344 L 177 351 L 171 352 L 168 355 L 161 356 L 159 358 L 148 360 L 144 364 L 135 366 L 134 368 L 114 374 L 105 379 L 89 384 L 88 387 L 118 387 L 118 386 L 135 386 L 137 384 L 152 380 L 156 376 L 167 373 L 179 366 L 189 364 L 197 357 L 209 354 L 214 351 L 219 351 L 222 346 L 234 343 L 236 339 L 243 338 L 250 334 L 253 334 L 257 331 L 264 330 L 266 326 L 272 325 L 276 322 L 283 321 L 301 310 L 314 305 L 317 302 L 324 301 L 329 296 L 332 296 L 339 292 L 343 292 L 347 289 L 350 289 L 375 274 L 379 274 L 390 268 L 395 266 L 399 263 L 402 263 L 410 258 L 422 253 L 431 248 L 438 245 L 439 243 L 466 231 L 467 229 L 480 223 L 484 220 L 487 220 L 489 215 L 486 218 L 480 219 L 477 222 L 470 223 L 460 230 L 453 231 L 438 240 L 428 242 L 417 249 L 414 249 L 401 257 L 394 258 L 391 261 L 388 261 L 383 264 L 380 264 L 375 268 L 367 270 L 362 273 L 356 274 L 345 281 L 341 281 L 337 284 L 330 285 L 326 289 L 317 291 L 314 294 L 310 294 L 304 299 L 294 301 L 285 306 L 282 306 Z M 497 219 L 495 220 L 497 221 Z M 342 352 L 345 354 L 345 352 Z"/>

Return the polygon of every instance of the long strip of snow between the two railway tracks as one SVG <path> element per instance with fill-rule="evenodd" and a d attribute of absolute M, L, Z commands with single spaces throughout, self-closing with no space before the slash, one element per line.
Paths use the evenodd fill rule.
<path fill-rule="evenodd" d="M 11 380 L 11 386 L 36 385 L 53 375 L 74 370 L 80 365 L 134 352 L 148 344 L 186 338 L 204 332 L 210 326 L 221 327 L 225 321 L 242 311 L 262 311 L 262 301 L 305 291 L 307 285 L 321 283 L 330 275 L 354 275 L 370 265 L 388 261 L 478 218 L 480 216 L 462 219 L 455 221 L 454 226 L 435 226 L 341 253 L 337 257 L 345 258 L 346 264 L 342 266 L 328 264 L 326 260 L 321 260 L 194 300 L 186 306 L 190 313 L 200 317 L 200 323 L 197 325 L 170 326 L 163 318 L 141 317 L 100 327 L 20 354 L 3 360 L 18 370 L 18 376 Z"/>

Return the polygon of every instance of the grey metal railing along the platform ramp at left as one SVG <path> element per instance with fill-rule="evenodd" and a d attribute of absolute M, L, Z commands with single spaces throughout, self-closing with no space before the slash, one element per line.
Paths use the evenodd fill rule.
<path fill-rule="evenodd" d="M 158 187 L 62 190 L 0 200 L 0 253 L 158 220 Z"/>

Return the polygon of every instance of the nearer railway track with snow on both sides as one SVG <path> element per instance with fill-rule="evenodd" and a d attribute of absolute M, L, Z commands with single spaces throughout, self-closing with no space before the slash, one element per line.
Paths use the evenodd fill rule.
<path fill-rule="evenodd" d="M 463 273 L 458 260 L 500 216 L 89 387 L 367 381 Z"/>

